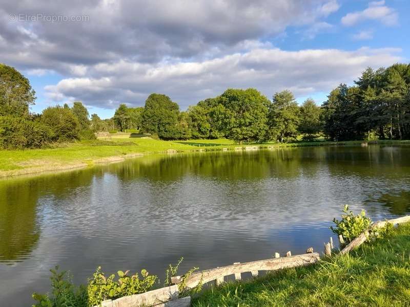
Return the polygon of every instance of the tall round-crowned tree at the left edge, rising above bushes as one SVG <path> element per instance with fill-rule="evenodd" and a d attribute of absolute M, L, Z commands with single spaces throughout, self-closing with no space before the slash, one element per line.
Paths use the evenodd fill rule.
<path fill-rule="evenodd" d="M 29 80 L 13 67 L 0 64 L 0 116 L 27 117 L 35 99 Z"/>

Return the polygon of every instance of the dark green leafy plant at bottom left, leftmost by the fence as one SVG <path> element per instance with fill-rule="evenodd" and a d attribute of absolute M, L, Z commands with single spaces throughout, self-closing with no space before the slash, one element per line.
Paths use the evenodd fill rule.
<path fill-rule="evenodd" d="M 76 288 L 67 271 L 58 272 L 58 266 L 51 272 L 51 294 L 33 293 L 32 297 L 38 303 L 33 307 L 87 307 L 88 295 L 84 286 Z"/>

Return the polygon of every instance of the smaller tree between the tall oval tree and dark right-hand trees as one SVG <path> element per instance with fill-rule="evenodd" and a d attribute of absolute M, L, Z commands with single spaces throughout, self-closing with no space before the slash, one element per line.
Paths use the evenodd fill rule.
<path fill-rule="evenodd" d="M 322 122 L 320 120 L 320 107 L 311 98 L 306 99 L 300 107 L 300 122 L 298 130 L 304 134 L 303 139 L 312 140 L 320 132 Z"/>

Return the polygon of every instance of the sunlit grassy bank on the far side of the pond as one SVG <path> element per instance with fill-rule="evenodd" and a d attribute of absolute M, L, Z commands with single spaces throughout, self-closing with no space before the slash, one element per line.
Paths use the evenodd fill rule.
<path fill-rule="evenodd" d="M 297 142 L 256 144 L 261 147 L 293 147 L 360 144 L 362 141 L 350 142 Z M 408 141 L 383 141 L 408 142 Z M 19 174 L 39 173 L 44 171 L 67 170 L 87 167 L 98 163 L 123 161 L 126 158 L 167 152 L 168 150 L 184 152 L 197 150 L 238 149 L 247 144 L 235 144 L 232 140 L 189 140 L 160 141 L 147 137 L 130 137 L 129 134 L 116 134 L 102 137 L 96 141 L 83 141 L 60 144 L 55 148 L 0 150 L 0 177 Z"/>

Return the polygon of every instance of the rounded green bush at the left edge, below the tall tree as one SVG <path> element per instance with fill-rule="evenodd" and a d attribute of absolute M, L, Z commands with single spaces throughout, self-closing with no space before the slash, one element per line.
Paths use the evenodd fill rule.
<path fill-rule="evenodd" d="M 48 145 L 55 133 L 47 125 L 24 117 L 0 117 L 0 147 L 6 149 L 40 148 Z"/>

